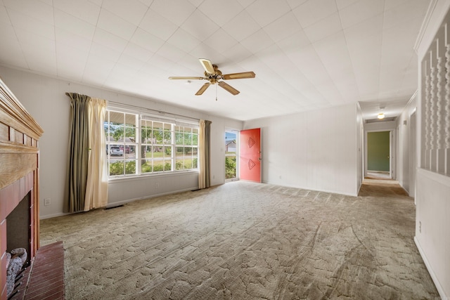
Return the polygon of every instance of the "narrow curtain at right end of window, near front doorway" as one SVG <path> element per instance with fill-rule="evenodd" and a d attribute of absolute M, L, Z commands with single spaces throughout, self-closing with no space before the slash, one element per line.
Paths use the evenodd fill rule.
<path fill-rule="evenodd" d="M 210 187 L 211 164 L 211 121 L 200 120 L 198 138 L 198 153 L 200 155 L 200 174 L 198 174 L 198 188 Z"/>

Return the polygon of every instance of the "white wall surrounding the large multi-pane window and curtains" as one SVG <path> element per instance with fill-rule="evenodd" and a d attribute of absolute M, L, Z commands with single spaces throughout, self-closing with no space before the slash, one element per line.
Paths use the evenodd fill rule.
<path fill-rule="evenodd" d="M 212 185 L 218 185 L 225 182 L 225 127 L 242 129 L 243 123 L 240 121 L 206 115 L 202 112 L 166 103 L 158 103 L 149 99 L 43 77 L 1 66 L 0 77 L 44 129 L 44 135 L 39 141 L 39 187 L 41 200 L 39 211 L 41 219 L 63 214 L 70 123 L 70 98 L 65 96 L 65 92 L 82 93 L 117 103 L 147 107 L 153 110 L 212 121 L 211 183 Z M 155 188 L 156 182 L 159 183 L 158 188 Z M 198 174 L 196 172 L 117 179 L 109 183 L 108 206 L 196 188 L 198 188 Z M 44 199 L 46 198 L 51 199 L 51 205 L 44 206 Z"/>

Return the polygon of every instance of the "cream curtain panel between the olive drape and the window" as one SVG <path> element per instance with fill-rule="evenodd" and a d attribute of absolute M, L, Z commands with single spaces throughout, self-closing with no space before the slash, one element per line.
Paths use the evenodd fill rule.
<path fill-rule="evenodd" d="M 106 164 L 105 122 L 106 100 L 89 101 L 89 163 L 87 169 L 84 211 L 108 204 L 108 166 Z"/>

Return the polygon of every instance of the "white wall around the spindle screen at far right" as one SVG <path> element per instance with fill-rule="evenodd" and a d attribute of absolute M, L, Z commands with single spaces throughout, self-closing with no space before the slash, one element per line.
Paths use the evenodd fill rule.
<path fill-rule="evenodd" d="M 421 61 L 428 51 L 439 26 L 450 8 L 449 0 L 432 1 L 430 19 L 425 23 L 423 38 L 418 45 L 419 71 Z M 420 71 L 421 72 L 421 71 Z M 417 103 L 418 145 L 421 132 L 421 84 Z M 420 148 L 418 156 L 420 157 Z M 414 240 L 435 282 L 442 299 L 450 299 L 450 178 L 417 169 L 416 174 L 416 237 Z"/>

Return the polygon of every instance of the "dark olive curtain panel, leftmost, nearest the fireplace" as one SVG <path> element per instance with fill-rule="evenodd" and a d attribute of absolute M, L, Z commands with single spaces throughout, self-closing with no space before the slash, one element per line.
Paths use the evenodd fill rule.
<path fill-rule="evenodd" d="M 90 97 L 65 93 L 70 97 L 70 137 L 64 211 L 84 210 L 89 160 L 88 105 Z"/>

